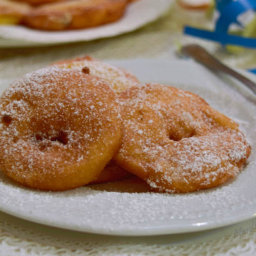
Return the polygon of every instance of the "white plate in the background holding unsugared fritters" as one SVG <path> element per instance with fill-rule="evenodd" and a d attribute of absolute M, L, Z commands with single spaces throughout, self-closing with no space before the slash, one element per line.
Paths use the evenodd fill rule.
<path fill-rule="evenodd" d="M 122 19 L 90 29 L 40 31 L 24 26 L 0 26 L 0 47 L 21 47 L 90 41 L 116 36 L 148 24 L 163 15 L 173 0 L 140 0 L 131 3 Z"/>

